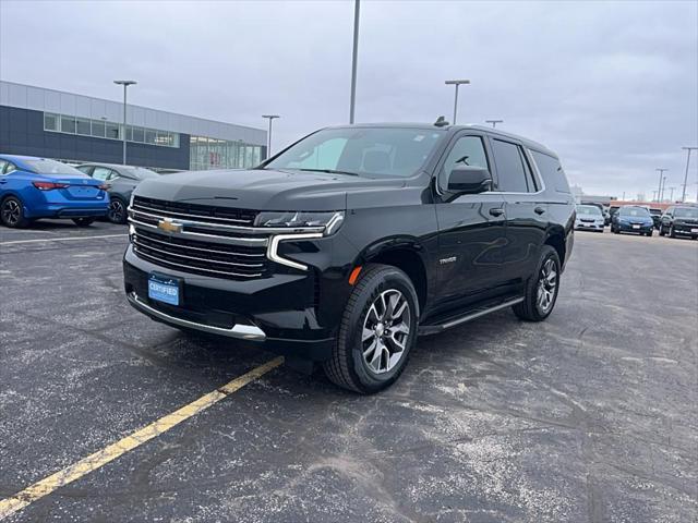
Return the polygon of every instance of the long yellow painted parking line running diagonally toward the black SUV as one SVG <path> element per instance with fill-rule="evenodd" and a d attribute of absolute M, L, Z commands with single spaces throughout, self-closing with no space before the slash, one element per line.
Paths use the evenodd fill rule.
<path fill-rule="evenodd" d="M 220 400 L 227 398 L 229 394 L 241 389 L 245 385 L 254 381 L 258 377 L 265 375 L 269 370 L 278 367 L 284 363 L 284 357 L 279 356 L 270 362 L 260 365 L 253 368 L 246 374 L 243 374 L 239 378 L 233 379 L 227 385 L 202 396 L 195 401 L 192 401 L 188 405 L 178 409 L 177 411 L 160 417 L 156 422 L 130 434 L 123 439 L 120 439 L 116 443 L 111 443 L 97 452 L 89 454 L 87 458 L 83 458 L 76 463 L 67 466 L 62 471 L 51 474 L 48 477 L 35 483 L 34 485 L 25 488 L 21 492 L 14 496 L 0 500 L 0 521 L 9 515 L 22 510 L 27 504 L 36 501 L 51 494 L 53 490 L 68 485 L 69 483 L 80 479 L 86 474 L 106 465 L 110 461 L 116 460 L 122 454 L 125 454 L 130 450 L 140 447 L 141 445 L 149 441 L 151 439 L 166 433 L 170 428 L 179 425 L 185 419 L 205 411 L 209 406 L 218 403 Z"/>

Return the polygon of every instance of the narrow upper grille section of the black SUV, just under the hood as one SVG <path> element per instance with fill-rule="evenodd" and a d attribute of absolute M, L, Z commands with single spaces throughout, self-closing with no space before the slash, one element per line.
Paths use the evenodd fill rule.
<path fill-rule="evenodd" d="M 203 219 L 209 223 L 252 227 L 257 210 L 236 209 L 183 202 L 166 202 L 164 199 L 134 196 L 133 210 L 153 214 L 167 218 Z"/>

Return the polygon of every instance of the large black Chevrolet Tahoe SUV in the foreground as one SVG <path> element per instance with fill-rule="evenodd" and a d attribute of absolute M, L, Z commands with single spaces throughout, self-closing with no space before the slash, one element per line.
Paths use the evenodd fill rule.
<path fill-rule="evenodd" d="M 145 180 L 129 220 L 136 309 L 264 342 L 374 392 L 398 378 L 418 335 L 505 307 L 547 317 L 575 210 L 540 144 L 372 124 L 323 129 L 252 170 Z"/>

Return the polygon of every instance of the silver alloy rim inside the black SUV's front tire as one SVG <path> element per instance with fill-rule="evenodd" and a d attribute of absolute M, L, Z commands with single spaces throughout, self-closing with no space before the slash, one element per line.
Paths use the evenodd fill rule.
<path fill-rule="evenodd" d="M 369 370 L 384 374 L 398 364 L 405 353 L 410 328 L 407 299 L 396 289 L 383 291 L 363 320 L 361 352 Z"/>

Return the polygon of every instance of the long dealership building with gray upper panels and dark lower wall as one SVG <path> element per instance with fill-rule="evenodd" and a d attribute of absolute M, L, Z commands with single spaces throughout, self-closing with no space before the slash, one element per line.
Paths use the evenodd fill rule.
<path fill-rule="evenodd" d="M 117 87 L 115 86 L 115 89 Z M 0 81 L 0 153 L 160 171 L 248 168 L 266 157 L 266 131 Z"/>

